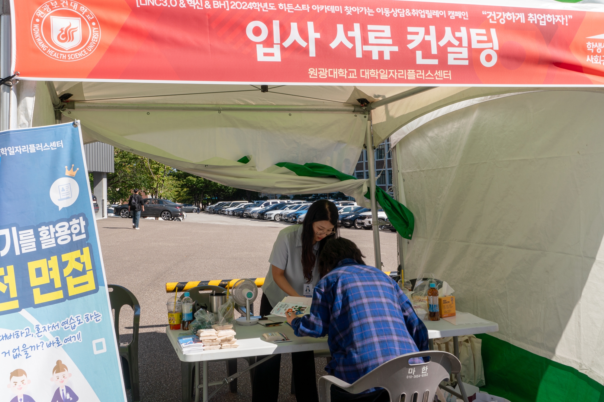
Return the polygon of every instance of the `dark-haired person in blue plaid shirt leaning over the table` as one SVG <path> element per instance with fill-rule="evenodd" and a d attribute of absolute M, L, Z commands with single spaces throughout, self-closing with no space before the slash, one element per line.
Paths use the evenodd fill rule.
<path fill-rule="evenodd" d="M 321 280 L 313 291 L 310 315 L 287 314 L 296 336 L 329 335 L 332 360 L 325 370 L 351 384 L 388 360 L 428 350 L 428 330 L 409 299 L 362 257 L 352 241 L 329 240 L 319 257 Z M 382 388 L 350 394 L 332 386 L 331 394 L 334 402 L 390 401 Z"/>

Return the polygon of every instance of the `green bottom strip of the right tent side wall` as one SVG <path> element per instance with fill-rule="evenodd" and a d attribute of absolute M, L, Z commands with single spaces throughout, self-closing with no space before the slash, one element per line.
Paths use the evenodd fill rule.
<path fill-rule="evenodd" d="M 582 372 L 488 334 L 482 339 L 481 391 L 512 402 L 604 402 L 604 386 Z"/>

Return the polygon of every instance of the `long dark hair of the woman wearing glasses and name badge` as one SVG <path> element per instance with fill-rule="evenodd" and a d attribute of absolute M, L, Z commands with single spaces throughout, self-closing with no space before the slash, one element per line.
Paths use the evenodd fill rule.
<path fill-rule="evenodd" d="M 330 237 L 338 237 L 338 208 L 334 203 L 327 199 L 320 199 L 312 203 L 306 218 L 302 222 L 302 268 L 304 278 L 307 283 L 312 280 L 312 271 L 315 269 L 316 255 L 313 249 L 313 239 L 315 239 L 315 230 L 312 227 L 314 222 L 329 221 L 333 225 L 334 234 L 324 237 L 319 242 L 319 253 L 323 250 L 323 245 Z"/>

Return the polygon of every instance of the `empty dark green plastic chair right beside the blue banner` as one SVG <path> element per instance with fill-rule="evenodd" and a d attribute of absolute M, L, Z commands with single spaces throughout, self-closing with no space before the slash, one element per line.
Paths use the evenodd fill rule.
<path fill-rule="evenodd" d="M 114 310 L 114 330 L 117 338 L 118 350 L 121 357 L 122 371 L 124 372 L 124 385 L 132 389 L 132 400 L 140 401 L 140 385 L 138 381 L 138 325 L 141 318 L 141 306 L 137 298 L 123 286 L 117 284 L 107 285 L 109 289 L 109 302 Z M 120 310 L 122 306 L 130 306 L 134 310 L 132 325 L 132 341 L 129 344 L 120 343 Z"/>

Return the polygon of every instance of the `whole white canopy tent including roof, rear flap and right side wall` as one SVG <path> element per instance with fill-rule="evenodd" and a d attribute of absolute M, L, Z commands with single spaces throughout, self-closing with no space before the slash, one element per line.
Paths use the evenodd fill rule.
<path fill-rule="evenodd" d="M 530 4 L 604 11 L 598 4 Z M 342 191 L 367 203 L 368 186 L 374 225 L 373 152 L 369 180 L 300 177 L 275 163 L 321 163 L 351 174 L 364 146 L 390 137 L 395 197 L 417 220 L 413 239 L 399 236 L 406 276 L 446 278 L 461 310 L 500 323 L 501 354 L 506 345 L 521 350 L 516 360 L 498 361 L 524 361 L 535 371 L 491 365 L 497 374 L 489 379 L 487 367 L 487 382 L 518 400 L 564 400 L 557 386 L 602 400 L 604 366 L 594 357 L 602 352 L 597 313 L 604 310 L 594 296 L 604 284 L 602 89 L 128 81 L 21 81 L 3 122 L 78 119 L 86 142 L 262 192 Z M 68 93 L 68 102 L 59 99 Z M 237 162 L 244 156 L 249 162 Z M 379 266 L 379 231 L 373 235 Z M 502 377 L 506 369 L 512 374 Z M 536 391 L 518 396 L 523 382 Z"/>

